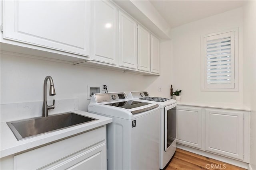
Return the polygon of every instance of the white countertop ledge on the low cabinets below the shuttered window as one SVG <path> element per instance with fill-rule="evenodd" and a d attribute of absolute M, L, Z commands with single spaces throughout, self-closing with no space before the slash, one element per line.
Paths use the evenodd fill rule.
<path fill-rule="evenodd" d="M 233 104 L 233 103 L 218 103 L 218 102 L 183 102 L 177 101 L 179 106 L 197 106 L 197 107 L 211 107 L 218 109 L 232 109 L 232 110 L 244 110 L 250 111 L 250 108 L 244 106 L 243 104 Z"/>

